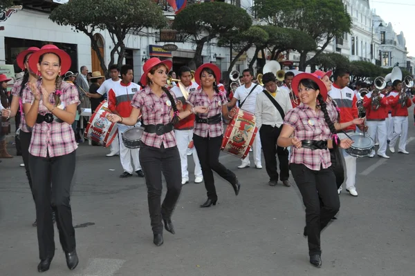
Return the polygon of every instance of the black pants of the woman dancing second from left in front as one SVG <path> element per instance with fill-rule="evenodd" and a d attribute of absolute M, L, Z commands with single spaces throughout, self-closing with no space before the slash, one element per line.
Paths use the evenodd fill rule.
<path fill-rule="evenodd" d="M 170 218 L 181 193 L 181 161 L 178 148 L 154 148 L 142 143 L 140 164 L 147 185 L 147 199 L 153 233 L 163 233 L 162 217 Z M 161 204 L 161 173 L 166 179 L 167 193 Z"/>

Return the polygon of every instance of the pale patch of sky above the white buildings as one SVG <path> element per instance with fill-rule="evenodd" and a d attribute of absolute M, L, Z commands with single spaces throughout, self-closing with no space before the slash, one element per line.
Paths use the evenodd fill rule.
<path fill-rule="evenodd" d="M 383 21 L 392 23 L 396 34 L 403 32 L 408 55 L 415 57 L 415 0 L 369 0 L 369 4 Z"/>

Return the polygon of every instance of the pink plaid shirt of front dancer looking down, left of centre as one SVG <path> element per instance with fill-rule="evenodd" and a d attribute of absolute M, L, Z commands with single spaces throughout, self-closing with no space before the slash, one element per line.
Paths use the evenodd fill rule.
<path fill-rule="evenodd" d="M 174 93 L 171 92 L 171 94 L 174 101 L 176 101 Z M 146 86 L 144 89 L 136 92 L 131 101 L 131 106 L 141 110 L 142 122 L 145 125 L 166 125 L 172 121 L 173 108 L 171 103 L 169 104 L 170 106 L 167 106 L 169 102 L 169 97 L 167 97 L 165 92 L 159 98 Z M 176 137 L 173 130 L 160 136 L 156 133 L 142 132 L 141 141 L 147 146 L 154 148 L 160 148 L 162 143 L 165 148 L 176 146 Z"/>

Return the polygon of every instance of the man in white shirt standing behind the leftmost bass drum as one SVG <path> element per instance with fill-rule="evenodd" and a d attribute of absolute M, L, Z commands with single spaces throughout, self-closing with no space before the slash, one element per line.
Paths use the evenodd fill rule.
<path fill-rule="evenodd" d="M 98 88 L 96 94 L 91 94 L 91 98 L 99 99 L 101 97 L 107 98 L 109 90 L 116 87 L 118 83 L 120 83 L 121 79 L 118 77 L 120 75 L 120 70 L 118 70 L 118 67 L 116 64 L 113 64 L 109 66 L 109 76 L 111 79 L 107 79 L 104 81 L 100 88 Z M 93 112 L 94 110 L 92 110 Z M 120 142 L 118 140 L 118 136 L 116 136 L 115 139 L 113 139 L 113 142 L 111 143 L 111 152 L 107 155 L 107 157 L 111 157 L 114 155 L 120 154 Z"/>

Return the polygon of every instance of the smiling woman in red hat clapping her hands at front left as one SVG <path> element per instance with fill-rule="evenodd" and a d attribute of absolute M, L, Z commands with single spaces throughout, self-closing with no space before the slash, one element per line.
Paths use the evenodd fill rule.
<path fill-rule="evenodd" d="M 71 67 L 71 57 L 54 45 L 45 45 L 33 52 L 29 66 L 40 76 L 36 83 L 29 83 L 30 89 L 24 90 L 22 96 L 26 124 L 33 128 L 29 168 L 41 260 L 37 270 L 48 270 L 55 255 L 52 210 L 66 265 L 73 270 L 79 261 L 70 204 L 77 149 L 71 125 L 80 100 L 77 88 L 60 77 Z"/>

